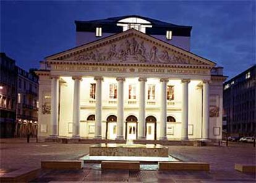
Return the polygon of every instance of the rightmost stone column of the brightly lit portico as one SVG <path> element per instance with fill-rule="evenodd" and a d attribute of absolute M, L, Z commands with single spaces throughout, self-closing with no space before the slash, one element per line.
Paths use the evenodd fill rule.
<path fill-rule="evenodd" d="M 209 82 L 203 81 L 203 139 L 209 138 Z"/>

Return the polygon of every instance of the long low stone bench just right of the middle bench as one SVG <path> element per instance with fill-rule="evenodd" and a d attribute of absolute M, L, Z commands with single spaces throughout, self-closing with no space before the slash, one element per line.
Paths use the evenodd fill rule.
<path fill-rule="evenodd" d="M 159 170 L 209 171 L 208 163 L 198 162 L 158 162 Z"/>

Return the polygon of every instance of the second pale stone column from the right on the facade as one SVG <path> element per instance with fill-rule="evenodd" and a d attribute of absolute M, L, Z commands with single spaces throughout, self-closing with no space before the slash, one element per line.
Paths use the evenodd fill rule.
<path fill-rule="evenodd" d="M 181 140 L 187 140 L 189 129 L 189 79 L 182 82 L 182 118 L 181 118 Z"/>

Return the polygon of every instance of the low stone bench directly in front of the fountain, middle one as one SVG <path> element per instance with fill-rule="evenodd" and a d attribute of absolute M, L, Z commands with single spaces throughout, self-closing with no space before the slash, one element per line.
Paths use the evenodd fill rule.
<path fill-rule="evenodd" d="M 139 161 L 101 161 L 101 169 L 129 169 L 140 170 Z"/>

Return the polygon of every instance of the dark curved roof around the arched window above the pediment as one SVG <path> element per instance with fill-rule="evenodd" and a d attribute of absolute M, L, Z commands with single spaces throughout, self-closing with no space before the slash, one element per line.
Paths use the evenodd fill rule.
<path fill-rule="evenodd" d="M 121 17 L 110 17 L 108 19 L 80 21 L 75 20 L 77 32 L 95 32 L 96 27 L 102 27 L 103 32 L 106 33 L 119 33 L 122 32 L 122 27 L 117 26 L 116 23 L 119 20 L 129 17 L 137 17 L 147 20 L 153 25 L 152 28 L 147 28 L 147 34 L 150 35 L 166 35 L 166 30 L 173 31 L 174 36 L 190 36 L 192 26 L 176 25 L 173 23 L 163 22 L 161 20 L 150 19 L 148 17 L 142 17 L 140 15 L 126 15 Z"/>

